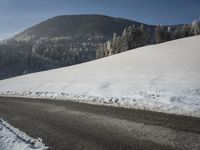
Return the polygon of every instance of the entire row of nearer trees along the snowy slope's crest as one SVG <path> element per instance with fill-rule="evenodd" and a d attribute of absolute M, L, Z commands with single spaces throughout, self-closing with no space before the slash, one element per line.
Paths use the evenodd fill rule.
<path fill-rule="evenodd" d="M 148 27 L 129 26 L 124 29 L 121 36 L 113 34 L 112 40 L 102 44 L 96 51 L 96 58 L 102 58 L 121 53 L 130 49 L 149 44 L 158 44 L 184 37 L 200 35 L 200 21 L 194 20 L 192 24 L 179 26 L 161 26 L 154 29 L 153 40 Z M 152 42 L 153 41 L 153 42 Z"/>

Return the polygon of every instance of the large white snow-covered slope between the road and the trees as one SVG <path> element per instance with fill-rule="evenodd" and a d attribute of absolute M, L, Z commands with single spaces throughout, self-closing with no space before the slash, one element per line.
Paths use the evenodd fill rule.
<path fill-rule="evenodd" d="M 200 117 L 200 36 L 2 80 L 0 94 Z"/>

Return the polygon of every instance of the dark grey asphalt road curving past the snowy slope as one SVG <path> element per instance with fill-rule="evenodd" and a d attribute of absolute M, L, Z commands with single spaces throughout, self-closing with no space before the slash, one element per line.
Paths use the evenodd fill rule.
<path fill-rule="evenodd" d="M 200 150 L 200 118 L 3 97 L 0 118 L 53 150 Z"/>

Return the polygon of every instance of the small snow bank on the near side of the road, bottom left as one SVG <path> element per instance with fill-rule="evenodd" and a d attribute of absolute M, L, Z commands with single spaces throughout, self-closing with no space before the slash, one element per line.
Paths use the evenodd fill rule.
<path fill-rule="evenodd" d="M 46 150 L 42 139 L 33 139 L 24 132 L 0 119 L 0 149 L 1 150 Z"/>

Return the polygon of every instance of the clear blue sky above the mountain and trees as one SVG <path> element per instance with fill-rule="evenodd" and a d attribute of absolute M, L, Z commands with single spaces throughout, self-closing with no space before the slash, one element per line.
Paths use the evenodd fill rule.
<path fill-rule="evenodd" d="M 0 0 L 0 39 L 65 14 L 103 14 L 147 24 L 182 24 L 200 17 L 200 0 Z"/>

